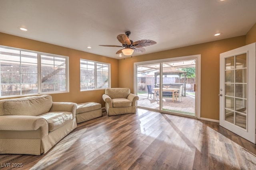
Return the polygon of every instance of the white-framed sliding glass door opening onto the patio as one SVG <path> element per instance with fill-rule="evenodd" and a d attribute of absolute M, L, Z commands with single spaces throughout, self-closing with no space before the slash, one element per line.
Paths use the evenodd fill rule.
<path fill-rule="evenodd" d="M 137 106 L 199 117 L 197 61 L 197 56 L 189 56 L 135 63 Z"/>

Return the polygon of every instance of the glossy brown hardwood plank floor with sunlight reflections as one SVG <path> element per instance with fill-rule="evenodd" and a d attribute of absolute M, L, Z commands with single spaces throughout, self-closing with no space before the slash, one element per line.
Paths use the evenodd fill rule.
<path fill-rule="evenodd" d="M 10 163 L 22 168 L 4 167 Z M 138 109 L 78 124 L 46 154 L 0 154 L 0 169 L 256 169 L 256 145 L 218 123 Z"/>

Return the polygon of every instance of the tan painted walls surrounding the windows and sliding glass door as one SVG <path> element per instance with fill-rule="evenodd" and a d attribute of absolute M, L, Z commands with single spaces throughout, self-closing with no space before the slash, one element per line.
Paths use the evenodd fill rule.
<path fill-rule="evenodd" d="M 220 53 L 256 42 L 256 24 L 247 35 L 191 45 L 148 55 L 116 60 L 48 43 L 0 33 L 0 45 L 69 56 L 70 92 L 52 94 L 54 101 L 98 102 L 104 107 L 104 90 L 80 92 L 79 60 L 89 59 L 111 64 L 111 87 L 128 87 L 134 91 L 134 63 L 201 54 L 201 117 L 219 120 L 219 56 Z M 146 47 L 150 48 L 150 47 Z"/>

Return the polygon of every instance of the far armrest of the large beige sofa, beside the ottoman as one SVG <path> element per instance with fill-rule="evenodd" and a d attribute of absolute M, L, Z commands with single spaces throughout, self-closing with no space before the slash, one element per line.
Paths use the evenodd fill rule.
<path fill-rule="evenodd" d="M 72 112 L 73 119 L 76 117 L 77 104 L 72 102 L 52 102 L 50 111 L 68 111 Z"/>

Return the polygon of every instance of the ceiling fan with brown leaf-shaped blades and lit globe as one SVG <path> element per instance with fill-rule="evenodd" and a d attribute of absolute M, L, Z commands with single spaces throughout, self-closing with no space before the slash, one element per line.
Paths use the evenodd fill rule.
<path fill-rule="evenodd" d="M 123 53 L 124 55 L 132 55 L 135 51 L 137 53 L 145 53 L 145 49 L 142 47 L 147 47 L 150 45 L 156 44 L 156 41 L 152 41 L 150 39 L 142 39 L 139 41 L 133 42 L 129 39 L 131 35 L 130 31 L 126 31 L 125 34 L 119 34 L 116 38 L 122 45 L 100 45 L 104 47 L 124 47 L 124 49 L 120 49 L 116 52 L 116 54 Z"/>

